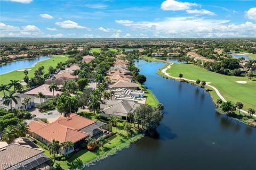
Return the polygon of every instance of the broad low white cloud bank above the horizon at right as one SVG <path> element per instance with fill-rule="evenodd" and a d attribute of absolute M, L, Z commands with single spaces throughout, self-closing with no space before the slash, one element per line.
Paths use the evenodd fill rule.
<path fill-rule="evenodd" d="M 173 17 L 162 21 L 129 22 L 122 25 L 132 30 L 151 31 L 155 36 L 165 37 L 255 37 L 256 35 L 256 24 L 252 22 L 230 24 L 229 20 L 198 17 Z"/>

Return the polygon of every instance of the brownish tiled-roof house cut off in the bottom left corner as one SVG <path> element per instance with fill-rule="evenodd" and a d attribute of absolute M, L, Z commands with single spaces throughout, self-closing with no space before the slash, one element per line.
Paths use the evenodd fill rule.
<path fill-rule="evenodd" d="M 51 159 L 31 141 L 24 139 L 0 148 L 0 170 L 49 169 Z"/>

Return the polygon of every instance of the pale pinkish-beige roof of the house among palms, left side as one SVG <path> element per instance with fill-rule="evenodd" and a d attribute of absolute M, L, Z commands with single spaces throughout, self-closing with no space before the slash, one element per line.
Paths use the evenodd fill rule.
<path fill-rule="evenodd" d="M 42 92 L 43 95 L 46 97 L 54 97 L 57 94 L 62 94 L 62 91 L 54 90 L 54 96 L 53 96 L 53 91 L 50 91 L 49 87 L 50 87 L 50 84 L 43 84 L 41 86 L 27 90 L 24 94 L 36 96 L 38 95 L 38 92 Z"/>

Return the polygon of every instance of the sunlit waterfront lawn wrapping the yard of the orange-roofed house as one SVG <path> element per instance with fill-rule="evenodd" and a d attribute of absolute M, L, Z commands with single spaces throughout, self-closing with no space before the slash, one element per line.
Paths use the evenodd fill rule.
<path fill-rule="evenodd" d="M 93 118 L 93 113 L 83 112 L 83 116 L 91 118 L 92 120 L 95 120 L 95 118 Z M 106 122 L 105 120 L 100 120 L 100 121 Z M 132 130 L 134 132 L 134 135 L 139 133 L 139 131 L 134 128 Z M 114 133 L 117 132 L 117 133 L 107 138 L 107 142 L 105 143 L 105 145 L 103 145 L 103 148 L 97 147 L 93 151 L 82 149 L 76 152 L 66 161 L 58 161 L 58 163 L 60 163 L 63 169 L 68 169 L 68 168 L 73 169 L 76 167 L 75 160 L 80 160 L 82 161 L 83 164 L 88 163 L 93 159 L 100 158 L 101 156 L 106 154 L 106 152 L 120 147 L 124 142 L 127 142 L 131 139 L 130 137 L 127 137 L 127 132 L 124 130 L 123 123 L 121 122 L 118 122 L 117 126 L 113 127 L 113 132 Z"/>

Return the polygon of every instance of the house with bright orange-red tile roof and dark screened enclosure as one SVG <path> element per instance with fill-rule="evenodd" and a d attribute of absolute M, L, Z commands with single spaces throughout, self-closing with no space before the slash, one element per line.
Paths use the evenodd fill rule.
<path fill-rule="evenodd" d="M 29 135 L 45 145 L 52 140 L 58 140 L 60 143 L 72 141 L 74 148 L 64 148 L 60 152 L 67 155 L 78 149 L 82 143 L 86 142 L 87 137 L 98 139 L 104 133 L 111 133 L 111 126 L 103 123 L 92 121 L 89 118 L 69 113 L 66 117 L 59 117 L 58 120 L 46 124 L 42 121 L 31 121 L 29 124 Z"/>

